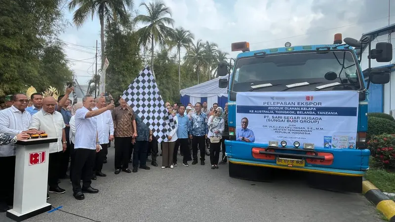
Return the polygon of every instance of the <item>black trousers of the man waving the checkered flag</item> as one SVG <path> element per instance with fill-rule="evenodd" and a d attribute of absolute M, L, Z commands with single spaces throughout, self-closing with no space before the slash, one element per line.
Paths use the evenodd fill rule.
<path fill-rule="evenodd" d="M 88 188 L 92 184 L 92 169 L 95 162 L 96 149 L 76 148 L 74 150 L 74 168 L 72 173 L 73 192 L 81 191 L 82 187 Z"/>

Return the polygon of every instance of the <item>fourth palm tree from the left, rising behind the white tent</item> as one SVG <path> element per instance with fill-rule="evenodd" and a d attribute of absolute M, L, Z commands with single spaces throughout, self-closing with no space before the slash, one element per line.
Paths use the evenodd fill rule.
<path fill-rule="evenodd" d="M 184 56 L 187 65 L 195 66 L 197 73 L 197 84 L 199 84 L 199 68 L 204 65 L 204 43 L 198 39 L 196 44 L 192 44 L 187 48 L 187 53 Z"/>

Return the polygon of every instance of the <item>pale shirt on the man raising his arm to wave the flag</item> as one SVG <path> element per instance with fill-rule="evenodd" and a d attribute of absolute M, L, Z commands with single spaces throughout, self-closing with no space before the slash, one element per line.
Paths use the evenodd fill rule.
<path fill-rule="evenodd" d="M 96 149 L 97 121 L 95 117 L 86 118 L 89 110 L 85 107 L 76 111 L 76 143 L 75 149 Z"/>

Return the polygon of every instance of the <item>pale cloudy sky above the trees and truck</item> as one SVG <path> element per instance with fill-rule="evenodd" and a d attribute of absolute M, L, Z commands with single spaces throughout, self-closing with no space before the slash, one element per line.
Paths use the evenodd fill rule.
<path fill-rule="evenodd" d="M 143 6 L 139 7 L 141 1 L 148 2 L 135 0 L 133 9 L 145 14 Z M 332 44 L 336 33 L 359 39 L 363 33 L 395 23 L 395 0 L 162 1 L 171 8 L 174 28 L 190 30 L 195 42 L 217 43 L 232 58 L 239 53 L 231 52 L 232 42 L 248 41 L 251 50 L 283 47 L 287 41 L 292 45 Z M 64 14 L 72 22 L 73 12 L 65 7 Z M 98 18 L 89 18 L 79 29 L 71 25 L 60 38 L 67 43 L 64 50 L 70 61 L 83 60 L 71 62 L 70 67 L 79 84 L 86 84 L 94 74 L 96 40 L 100 48 Z M 98 60 L 100 67 L 100 57 Z"/>

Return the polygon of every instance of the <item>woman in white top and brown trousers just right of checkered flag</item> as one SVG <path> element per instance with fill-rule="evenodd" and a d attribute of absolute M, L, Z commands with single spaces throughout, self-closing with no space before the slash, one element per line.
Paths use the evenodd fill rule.
<path fill-rule="evenodd" d="M 166 116 L 165 118 L 169 118 L 170 121 L 165 121 L 164 125 L 166 140 L 163 141 L 162 144 L 162 169 L 166 167 L 173 169 L 173 153 L 177 140 L 178 119 L 176 115 L 172 115 L 173 108 L 169 103 L 166 103 L 166 109 L 168 111 L 168 117 Z M 171 119 L 173 119 L 173 121 L 171 121 Z"/>

